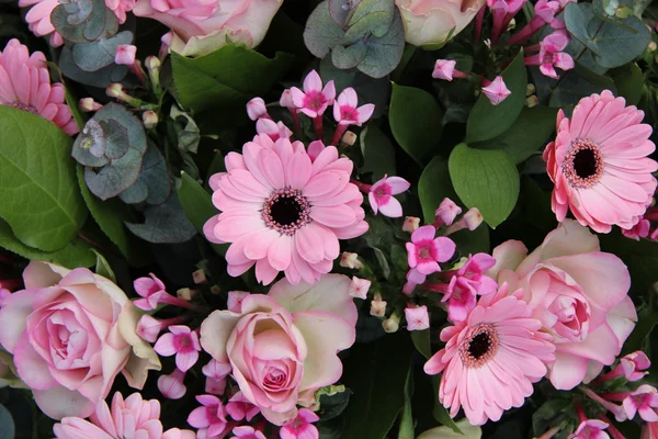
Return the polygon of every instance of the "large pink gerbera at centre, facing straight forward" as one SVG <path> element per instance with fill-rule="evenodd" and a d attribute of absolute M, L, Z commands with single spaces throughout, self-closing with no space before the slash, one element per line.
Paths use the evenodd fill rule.
<path fill-rule="evenodd" d="M 333 267 L 339 239 L 367 230 L 363 196 L 350 183 L 352 161 L 338 158 L 333 146 L 311 160 L 302 143 L 261 134 L 225 162 L 227 172 L 209 181 L 223 213 L 204 233 L 213 243 L 232 243 L 226 254 L 231 275 L 256 263 L 263 284 L 280 271 L 293 284 L 314 283 Z"/>

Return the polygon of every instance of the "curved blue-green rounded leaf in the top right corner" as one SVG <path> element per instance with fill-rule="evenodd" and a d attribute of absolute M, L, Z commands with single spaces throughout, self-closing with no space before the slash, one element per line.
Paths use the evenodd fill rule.
<path fill-rule="evenodd" d="M 624 20 L 602 20 L 590 3 L 569 3 L 565 8 L 565 24 L 569 33 L 592 50 L 602 67 L 613 68 L 640 56 L 651 40 L 651 33 L 637 16 Z"/>

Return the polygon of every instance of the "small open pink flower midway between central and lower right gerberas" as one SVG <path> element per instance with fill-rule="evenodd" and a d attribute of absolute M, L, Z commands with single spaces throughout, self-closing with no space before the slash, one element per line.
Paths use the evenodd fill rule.
<path fill-rule="evenodd" d="M 422 275 L 441 271 L 439 262 L 450 260 L 455 254 L 455 243 L 443 236 L 435 238 L 435 234 L 434 226 L 422 226 L 406 245 L 409 267 Z"/>

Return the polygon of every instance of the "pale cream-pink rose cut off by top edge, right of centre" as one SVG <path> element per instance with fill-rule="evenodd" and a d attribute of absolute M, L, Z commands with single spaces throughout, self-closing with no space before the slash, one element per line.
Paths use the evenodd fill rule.
<path fill-rule="evenodd" d="M 405 23 L 405 38 L 416 46 L 439 47 L 455 36 L 485 5 L 485 0 L 395 0 Z"/>

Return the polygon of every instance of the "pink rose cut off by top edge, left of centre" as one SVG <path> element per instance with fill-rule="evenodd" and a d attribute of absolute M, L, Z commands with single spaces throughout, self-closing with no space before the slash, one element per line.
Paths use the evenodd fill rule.
<path fill-rule="evenodd" d="M 133 12 L 169 26 L 172 50 L 196 56 L 230 42 L 258 46 L 282 3 L 283 0 L 137 0 Z"/>

